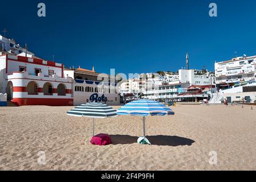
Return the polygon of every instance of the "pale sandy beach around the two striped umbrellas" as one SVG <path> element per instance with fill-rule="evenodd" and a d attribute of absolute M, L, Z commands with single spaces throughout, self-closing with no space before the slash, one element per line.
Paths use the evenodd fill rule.
<path fill-rule="evenodd" d="M 131 116 L 96 119 L 113 144 L 94 146 L 91 119 L 66 115 L 72 108 L 0 107 L 0 170 L 256 170 L 255 106 L 171 107 L 175 115 L 146 118 L 151 146 L 137 144 L 142 120 Z"/>

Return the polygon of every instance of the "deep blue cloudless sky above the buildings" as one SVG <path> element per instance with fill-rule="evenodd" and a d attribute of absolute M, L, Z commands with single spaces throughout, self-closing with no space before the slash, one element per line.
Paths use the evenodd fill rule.
<path fill-rule="evenodd" d="M 46 17 L 37 16 L 44 2 Z M 218 17 L 209 16 L 217 3 Z M 109 73 L 213 71 L 214 62 L 256 55 L 256 1 L 5 1 L 1 30 L 37 56 Z"/>

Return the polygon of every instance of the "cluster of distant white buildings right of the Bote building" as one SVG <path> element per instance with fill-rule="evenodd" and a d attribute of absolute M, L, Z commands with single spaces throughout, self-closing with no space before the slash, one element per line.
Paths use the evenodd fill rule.
<path fill-rule="evenodd" d="M 214 73 L 194 69 L 179 69 L 178 73 L 165 72 L 142 73 L 139 78 L 129 79 L 121 85 L 123 94 L 133 96 L 133 99 L 145 98 L 149 100 L 165 101 L 194 101 L 209 99 L 210 90 L 215 92 Z M 188 90 L 190 86 L 197 86 L 197 92 Z M 212 85 L 212 86 L 210 86 Z M 208 88 L 208 89 L 206 89 Z M 191 99 L 190 99 L 191 98 Z"/>

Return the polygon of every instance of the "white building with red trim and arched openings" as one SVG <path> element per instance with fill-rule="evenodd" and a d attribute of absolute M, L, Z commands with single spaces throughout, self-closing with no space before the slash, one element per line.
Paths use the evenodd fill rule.
<path fill-rule="evenodd" d="M 0 93 L 22 105 L 73 105 L 72 81 L 63 64 L 38 58 L 0 55 Z"/>

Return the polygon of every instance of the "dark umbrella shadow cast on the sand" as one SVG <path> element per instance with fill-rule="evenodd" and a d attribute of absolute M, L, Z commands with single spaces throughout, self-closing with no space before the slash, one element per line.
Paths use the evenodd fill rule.
<path fill-rule="evenodd" d="M 138 137 L 130 135 L 110 135 L 112 144 L 132 144 L 137 143 Z M 150 143 L 157 146 L 191 146 L 195 141 L 189 138 L 177 137 L 177 136 L 146 136 Z"/>

